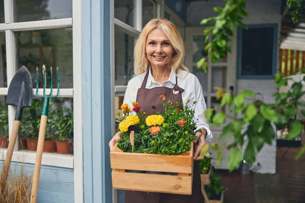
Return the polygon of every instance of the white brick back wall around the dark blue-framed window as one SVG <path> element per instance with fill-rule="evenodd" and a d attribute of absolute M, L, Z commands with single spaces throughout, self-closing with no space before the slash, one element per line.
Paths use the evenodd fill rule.
<path fill-rule="evenodd" d="M 212 10 L 214 7 L 224 7 L 223 0 L 214 1 L 200 1 L 191 2 L 187 12 L 187 26 L 200 26 L 200 21 L 203 18 L 210 16 L 216 16 L 217 13 Z M 278 50 L 280 44 L 280 26 L 281 26 L 281 2 L 278 0 L 247 0 L 246 12 L 249 14 L 249 18 L 243 20 L 245 24 L 267 24 L 278 23 Z M 232 43 L 236 43 L 237 39 L 232 39 Z M 234 45 L 236 46 L 236 44 Z M 234 54 L 234 53 L 235 54 Z M 278 51 L 279 53 L 279 51 Z M 232 49 L 232 55 L 237 56 L 236 49 Z M 279 54 L 278 60 L 279 61 Z M 277 62 L 277 69 L 279 70 L 279 62 Z M 235 65 L 235 67 L 234 67 Z M 229 68 L 232 66 L 229 65 Z M 236 68 L 236 64 L 233 64 L 233 68 Z M 263 94 L 263 100 L 265 103 L 271 103 L 274 101 L 272 94 L 277 90 L 272 79 L 248 79 L 248 80 L 236 80 L 236 92 L 239 93 L 241 89 L 251 89 L 254 92 L 260 92 Z M 215 131 L 214 137 L 218 137 L 219 131 Z M 214 140 L 214 142 L 216 142 Z M 257 155 L 257 161 L 262 165 L 261 170 L 258 173 L 275 173 L 276 172 L 276 143 L 272 143 L 271 146 L 266 145 L 262 151 Z M 226 153 L 223 153 L 225 155 Z M 215 153 L 214 153 L 215 155 Z M 227 162 L 227 157 L 224 157 L 224 163 L 219 168 L 224 168 Z"/>

